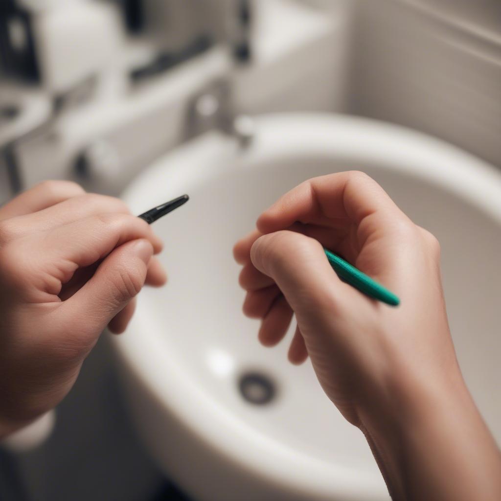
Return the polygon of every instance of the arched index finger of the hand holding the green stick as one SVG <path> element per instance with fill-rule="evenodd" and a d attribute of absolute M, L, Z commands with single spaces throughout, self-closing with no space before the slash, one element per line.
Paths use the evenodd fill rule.
<path fill-rule="evenodd" d="M 271 233 L 296 221 L 349 218 L 359 225 L 368 216 L 375 217 L 382 228 L 395 217 L 406 218 L 379 184 L 362 172 L 350 171 L 300 184 L 265 211 L 257 224 L 262 233 Z"/>

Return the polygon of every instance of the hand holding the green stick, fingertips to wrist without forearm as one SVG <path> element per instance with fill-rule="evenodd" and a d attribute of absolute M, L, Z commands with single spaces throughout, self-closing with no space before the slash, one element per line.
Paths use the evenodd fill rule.
<path fill-rule="evenodd" d="M 360 172 L 297 186 L 234 248 L 243 265 L 244 312 L 262 317 L 260 340 L 275 345 L 293 312 L 289 358 L 308 354 L 327 395 L 353 424 L 388 384 L 460 378 L 442 294 L 439 245 Z M 343 283 L 322 246 L 393 291 L 389 307 Z M 397 375 L 397 377 L 394 377 Z M 395 381 L 393 381 L 395 379 Z M 382 395 L 379 395 L 379 398 Z"/>

